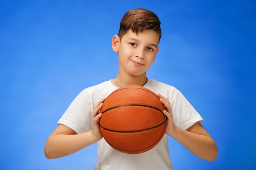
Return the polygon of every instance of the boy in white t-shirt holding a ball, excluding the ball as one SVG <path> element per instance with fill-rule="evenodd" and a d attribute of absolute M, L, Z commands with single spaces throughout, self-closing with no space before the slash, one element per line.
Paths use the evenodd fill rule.
<path fill-rule="evenodd" d="M 216 144 L 201 126 L 202 117 L 193 106 L 173 86 L 146 77 L 159 50 L 160 38 L 160 21 L 154 13 L 133 9 L 124 15 L 119 34 L 112 38 L 112 49 L 118 52 L 117 77 L 85 88 L 74 99 L 47 139 L 47 158 L 64 157 L 98 142 L 95 170 L 172 170 L 167 135 L 202 159 L 213 161 L 216 158 Z M 99 130 L 100 109 L 105 97 L 126 85 L 144 86 L 157 93 L 166 108 L 166 134 L 157 146 L 141 154 L 126 154 L 113 149 Z"/>

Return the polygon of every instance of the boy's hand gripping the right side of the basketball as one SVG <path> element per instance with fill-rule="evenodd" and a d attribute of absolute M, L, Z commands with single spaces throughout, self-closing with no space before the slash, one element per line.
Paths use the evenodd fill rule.
<path fill-rule="evenodd" d="M 170 135 L 175 131 L 175 124 L 173 122 L 173 113 L 169 100 L 163 95 L 157 94 L 160 97 L 160 102 L 164 105 L 165 110 L 163 111 L 164 115 L 167 117 L 167 127 L 165 133 Z"/>

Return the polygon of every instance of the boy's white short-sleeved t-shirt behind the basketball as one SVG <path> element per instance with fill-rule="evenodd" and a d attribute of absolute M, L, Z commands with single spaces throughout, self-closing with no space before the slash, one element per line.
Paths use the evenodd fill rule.
<path fill-rule="evenodd" d="M 144 85 L 155 93 L 169 99 L 173 121 L 176 126 L 186 130 L 202 117 L 175 87 L 148 78 Z M 96 86 L 85 88 L 74 99 L 58 124 L 64 124 L 77 133 L 92 130 L 93 106 L 103 97 L 107 97 L 115 87 L 110 80 Z M 172 170 L 168 140 L 165 134 L 162 140 L 151 150 L 140 154 L 126 154 L 113 149 L 103 139 L 98 141 L 98 160 L 94 170 Z"/>

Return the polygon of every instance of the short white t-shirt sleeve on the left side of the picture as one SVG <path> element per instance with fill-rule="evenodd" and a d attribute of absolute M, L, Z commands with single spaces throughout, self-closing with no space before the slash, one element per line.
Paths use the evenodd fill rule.
<path fill-rule="evenodd" d="M 64 124 L 76 133 L 90 131 L 92 130 L 92 110 L 92 100 L 86 90 L 83 90 L 67 108 L 58 124 Z"/>

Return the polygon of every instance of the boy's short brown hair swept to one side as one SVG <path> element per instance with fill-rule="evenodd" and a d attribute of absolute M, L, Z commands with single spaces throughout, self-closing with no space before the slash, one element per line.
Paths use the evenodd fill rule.
<path fill-rule="evenodd" d="M 159 34 L 161 38 L 160 20 L 155 13 L 146 9 L 132 9 L 124 14 L 121 22 L 118 36 L 120 40 L 130 29 L 138 34 L 146 29 L 153 30 Z"/>

